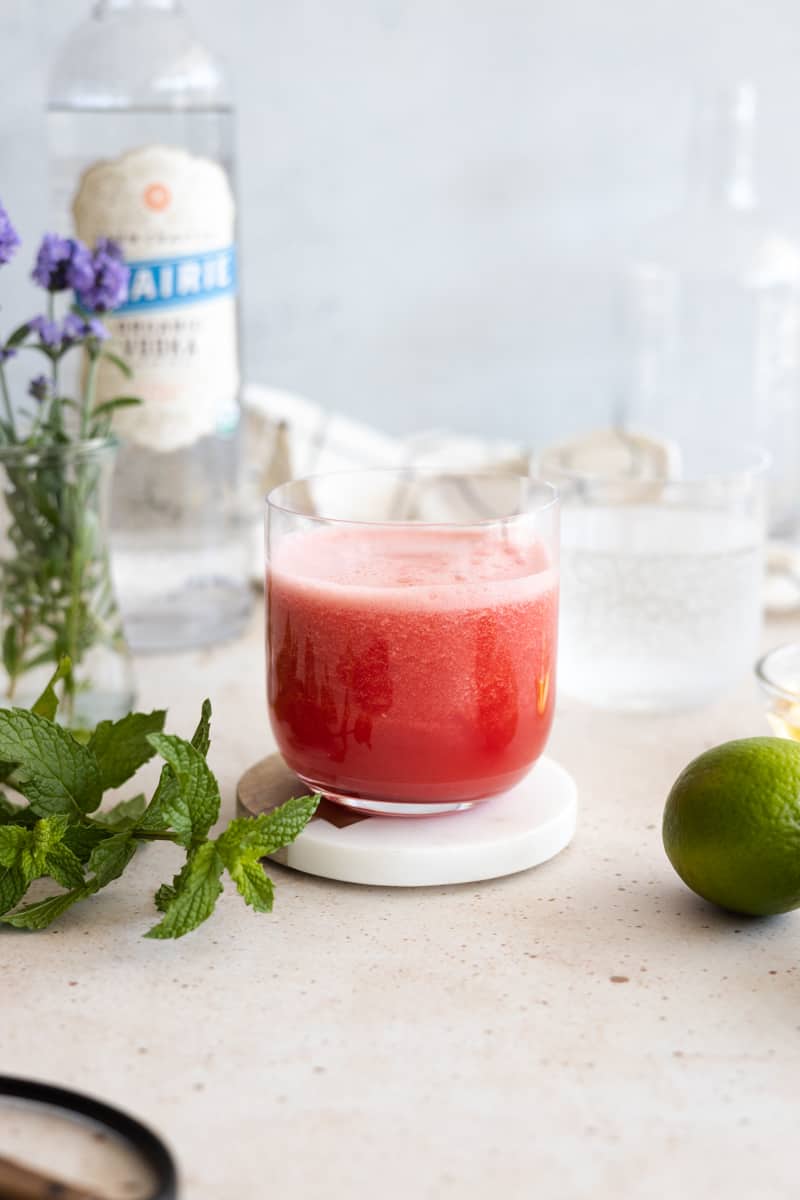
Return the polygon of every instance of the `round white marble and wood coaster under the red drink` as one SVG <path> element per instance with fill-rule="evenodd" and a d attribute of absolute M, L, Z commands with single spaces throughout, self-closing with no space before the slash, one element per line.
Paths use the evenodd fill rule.
<path fill-rule="evenodd" d="M 306 791 L 281 756 L 271 755 L 240 779 L 239 811 L 258 816 Z M 553 858 L 571 841 L 577 810 L 572 776 L 551 758 L 540 758 L 516 787 L 464 812 L 369 816 L 323 800 L 297 840 L 271 857 L 345 883 L 474 883 Z"/>

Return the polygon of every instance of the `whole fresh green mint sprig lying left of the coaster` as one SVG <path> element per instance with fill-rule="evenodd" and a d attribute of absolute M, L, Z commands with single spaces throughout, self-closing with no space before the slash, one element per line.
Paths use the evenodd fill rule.
<path fill-rule="evenodd" d="M 0 779 L 28 802 L 0 793 L 0 922 L 46 929 L 120 878 L 152 841 L 181 846 L 186 863 L 156 892 L 162 918 L 148 937 L 182 937 L 207 920 L 225 875 L 255 912 L 271 912 L 273 888 L 261 859 L 294 841 L 319 797 L 233 820 L 210 838 L 219 816 L 219 786 L 206 762 L 210 702 L 204 701 L 191 740 L 163 732 L 162 710 L 102 721 L 88 740 L 78 740 L 55 724 L 53 685 L 68 670 L 68 662 L 59 666 L 30 710 L 0 709 Z M 127 782 L 156 754 L 164 766 L 150 802 L 139 793 L 100 811 L 103 792 Z M 37 880 L 62 890 L 23 905 Z"/>

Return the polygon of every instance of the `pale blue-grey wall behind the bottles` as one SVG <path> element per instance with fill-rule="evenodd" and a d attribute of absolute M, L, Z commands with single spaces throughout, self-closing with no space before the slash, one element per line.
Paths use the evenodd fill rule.
<path fill-rule="evenodd" d="M 602 424 L 619 272 L 680 199 L 691 88 L 760 89 L 800 234 L 796 0 L 188 0 L 240 110 L 249 379 L 386 430 Z M 47 224 L 43 102 L 79 0 L 0 0 L 0 196 Z M 35 302 L 0 277 L 2 318 Z"/>

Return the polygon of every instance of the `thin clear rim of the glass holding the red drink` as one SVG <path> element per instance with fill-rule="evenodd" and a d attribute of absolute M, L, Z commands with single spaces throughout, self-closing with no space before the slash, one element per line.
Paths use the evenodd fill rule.
<path fill-rule="evenodd" d="M 391 476 L 395 475 L 398 482 L 413 479 L 431 479 L 431 480 L 480 480 L 480 479 L 493 479 L 504 482 L 511 480 L 517 480 L 521 484 L 528 485 L 530 488 L 539 488 L 540 492 L 546 497 L 541 503 L 531 504 L 529 509 L 524 512 L 515 512 L 510 516 L 497 516 L 486 517 L 482 521 L 409 521 L 409 520 L 368 520 L 363 517 L 326 517 L 318 512 L 303 512 L 299 508 L 285 503 L 284 497 L 281 496 L 282 492 L 288 491 L 293 487 L 302 487 L 303 485 L 313 484 L 315 480 L 320 479 L 367 479 L 379 478 L 379 476 Z M 315 521 L 320 524 L 332 524 L 332 526 L 355 526 L 357 528 L 369 527 L 369 528 L 399 528 L 403 526 L 414 527 L 416 529 L 486 529 L 492 526 L 507 526 L 515 522 L 529 521 L 531 517 L 539 517 L 546 512 L 558 510 L 559 506 L 559 490 L 555 484 L 549 480 L 541 479 L 537 475 L 523 475 L 519 472 L 501 472 L 501 470 L 459 470 L 457 468 L 439 468 L 439 467 L 355 467 L 343 470 L 320 470 L 312 475 L 301 475 L 297 479 L 285 480 L 283 484 L 277 484 L 271 488 L 264 497 L 264 503 L 267 514 L 273 510 L 276 512 L 283 512 L 289 517 L 300 517 L 305 521 Z"/>

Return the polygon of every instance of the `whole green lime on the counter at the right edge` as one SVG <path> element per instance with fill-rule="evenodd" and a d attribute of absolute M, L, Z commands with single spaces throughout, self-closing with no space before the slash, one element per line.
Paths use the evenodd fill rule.
<path fill-rule="evenodd" d="M 800 744 L 742 738 L 694 758 L 667 797 L 663 842 L 684 883 L 723 908 L 800 906 Z"/>

